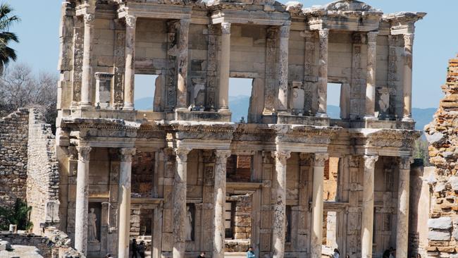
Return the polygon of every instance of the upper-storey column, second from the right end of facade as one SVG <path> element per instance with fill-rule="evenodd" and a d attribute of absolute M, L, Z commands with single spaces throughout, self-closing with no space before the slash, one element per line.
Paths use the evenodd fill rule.
<path fill-rule="evenodd" d="M 375 119 L 378 32 L 367 33 L 366 119 Z"/>

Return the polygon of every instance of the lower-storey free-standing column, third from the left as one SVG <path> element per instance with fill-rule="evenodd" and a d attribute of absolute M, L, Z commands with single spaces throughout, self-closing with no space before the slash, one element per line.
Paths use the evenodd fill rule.
<path fill-rule="evenodd" d="M 176 169 L 173 183 L 173 258 L 185 258 L 186 250 L 186 173 L 191 149 L 175 149 Z"/>

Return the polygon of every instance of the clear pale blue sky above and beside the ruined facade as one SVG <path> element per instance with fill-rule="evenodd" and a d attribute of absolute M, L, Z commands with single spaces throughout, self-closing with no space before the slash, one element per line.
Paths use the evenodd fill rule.
<path fill-rule="evenodd" d="M 4 0 L 3 2 L 11 4 L 22 19 L 11 29 L 20 37 L 20 44 L 13 45 L 18 51 L 18 62 L 30 64 L 35 71 L 57 73 L 61 0 Z M 327 4 L 330 1 L 302 2 L 304 6 L 313 6 Z M 440 85 L 445 82 L 447 61 L 456 56 L 458 51 L 458 34 L 454 22 L 458 1 L 368 0 L 366 3 L 382 9 L 385 13 L 398 11 L 428 13 L 428 16 L 419 21 L 416 26 L 413 106 L 419 108 L 438 106 L 443 95 Z M 138 86 L 142 87 L 142 85 Z M 249 91 L 235 90 L 230 94 L 249 94 Z"/>

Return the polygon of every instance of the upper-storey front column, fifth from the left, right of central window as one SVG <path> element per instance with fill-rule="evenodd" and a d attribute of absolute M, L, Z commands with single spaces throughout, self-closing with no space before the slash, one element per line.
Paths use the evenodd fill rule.
<path fill-rule="evenodd" d="M 288 48 L 290 26 L 280 27 L 280 59 L 278 60 L 278 111 L 288 109 Z"/>

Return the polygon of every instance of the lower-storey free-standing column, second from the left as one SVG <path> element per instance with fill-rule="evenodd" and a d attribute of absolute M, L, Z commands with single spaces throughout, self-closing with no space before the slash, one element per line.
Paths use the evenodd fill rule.
<path fill-rule="evenodd" d="M 129 234 L 130 234 L 130 182 L 132 179 L 132 156 L 134 148 L 120 149 L 120 169 L 118 186 L 118 257 L 129 257 Z"/>

